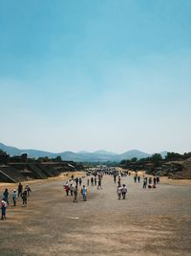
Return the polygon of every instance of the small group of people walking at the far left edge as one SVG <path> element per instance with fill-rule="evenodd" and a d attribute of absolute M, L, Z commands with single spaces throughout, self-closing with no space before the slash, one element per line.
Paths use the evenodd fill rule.
<path fill-rule="evenodd" d="M 17 199 L 22 198 L 22 206 L 27 206 L 27 199 L 30 197 L 32 190 L 30 186 L 27 184 L 25 187 L 21 183 L 18 184 L 18 188 L 13 189 L 11 192 L 11 198 L 12 198 L 12 206 L 15 207 L 17 204 Z M 6 220 L 6 212 L 7 208 L 10 206 L 10 192 L 8 188 L 5 189 L 2 195 L 1 200 L 1 219 Z"/>

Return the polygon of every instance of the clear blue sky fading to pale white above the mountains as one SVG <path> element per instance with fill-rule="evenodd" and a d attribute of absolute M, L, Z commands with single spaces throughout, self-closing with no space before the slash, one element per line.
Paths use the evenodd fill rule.
<path fill-rule="evenodd" d="M 0 142 L 191 151 L 190 0 L 0 0 Z"/>

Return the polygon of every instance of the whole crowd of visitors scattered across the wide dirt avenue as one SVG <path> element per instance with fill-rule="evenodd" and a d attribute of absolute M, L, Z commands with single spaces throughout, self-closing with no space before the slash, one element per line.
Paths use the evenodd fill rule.
<path fill-rule="evenodd" d="M 131 175 L 130 172 L 119 172 L 115 168 L 113 169 L 106 169 L 106 170 L 93 170 L 87 173 L 86 184 L 84 184 L 83 177 L 75 177 L 74 175 L 71 176 L 71 179 L 68 179 L 66 183 L 63 185 L 64 190 L 66 192 L 67 197 L 72 197 L 74 202 L 78 202 L 78 196 L 80 195 L 83 201 L 87 200 L 88 189 L 87 187 L 92 186 L 97 190 L 102 190 L 102 179 L 104 175 L 111 175 L 114 178 L 114 184 L 117 183 L 116 192 L 118 199 L 125 199 L 127 196 L 128 188 L 126 184 L 121 184 L 121 177 Z M 140 175 L 138 172 L 135 172 L 134 175 L 134 183 L 140 183 Z M 159 176 L 142 176 L 142 188 L 156 188 L 157 184 L 159 183 Z M 12 206 L 17 205 L 17 199 L 22 199 L 22 206 L 26 207 L 28 198 L 30 197 L 32 190 L 30 186 L 27 184 L 25 187 L 19 183 L 17 190 L 14 189 L 11 192 L 12 198 Z M 10 205 L 9 200 L 10 193 L 8 188 L 5 189 L 2 195 L 1 201 L 1 219 L 6 220 L 6 211 Z"/>

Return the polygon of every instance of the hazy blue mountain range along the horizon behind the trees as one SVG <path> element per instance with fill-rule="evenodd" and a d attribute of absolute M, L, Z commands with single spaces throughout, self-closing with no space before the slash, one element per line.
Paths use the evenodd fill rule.
<path fill-rule="evenodd" d="M 13 155 L 20 155 L 22 153 L 28 153 L 29 157 L 38 158 L 38 157 L 45 157 L 48 156 L 50 158 L 56 157 L 60 155 L 62 160 L 66 161 L 74 161 L 74 162 L 119 162 L 121 160 L 132 159 L 133 157 L 137 157 L 138 159 L 151 156 L 152 154 L 143 152 L 143 151 L 126 151 L 124 153 L 115 153 L 109 151 L 63 151 L 58 153 L 53 153 L 50 151 L 36 151 L 36 150 L 19 150 L 17 148 L 7 146 L 3 143 L 0 143 L 0 150 L 6 151 L 11 156 Z M 160 152 L 162 157 L 166 155 L 166 151 Z"/>

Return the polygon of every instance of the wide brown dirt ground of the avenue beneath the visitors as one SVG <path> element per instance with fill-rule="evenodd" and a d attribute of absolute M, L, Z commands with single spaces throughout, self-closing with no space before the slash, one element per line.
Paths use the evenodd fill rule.
<path fill-rule="evenodd" d="M 102 190 L 89 186 L 88 200 L 74 203 L 63 190 L 70 176 L 31 181 L 28 206 L 11 202 L 0 221 L 0 255 L 191 255 L 191 182 L 162 178 L 143 190 L 132 175 L 122 177 L 128 196 L 118 200 L 105 175 Z M 17 184 L 0 184 L 1 194 L 5 187 Z"/>

